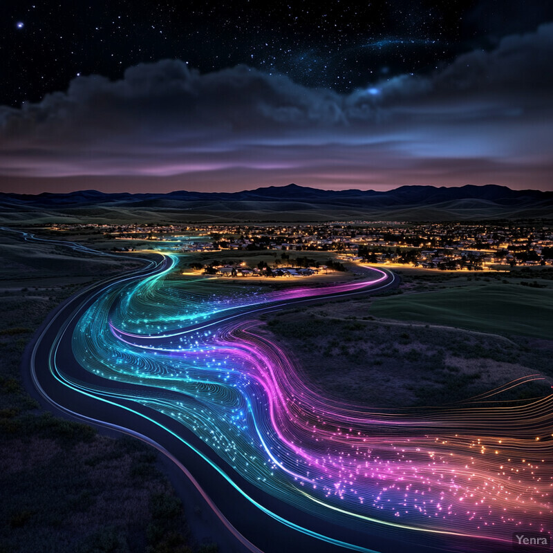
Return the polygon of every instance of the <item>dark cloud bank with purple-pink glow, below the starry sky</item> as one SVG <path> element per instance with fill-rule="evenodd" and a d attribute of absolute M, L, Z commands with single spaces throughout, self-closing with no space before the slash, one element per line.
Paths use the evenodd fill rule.
<path fill-rule="evenodd" d="M 0 107 L 0 183 L 89 176 L 117 187 L 118 178 L 137 176 L 171 177 L 171 189 L 299 178 L 328 187 L 547 188 L 551 59 L 553 24 L 429 77 L 404 75 L 348 95 L 246 66 L 200 74 L 169 59 L 133 66 L 115 82 L 79 77 L 39 104 Z"/>

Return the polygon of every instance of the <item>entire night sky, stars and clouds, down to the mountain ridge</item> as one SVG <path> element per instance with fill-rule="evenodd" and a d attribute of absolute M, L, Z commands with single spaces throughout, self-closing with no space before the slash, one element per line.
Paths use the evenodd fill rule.
<path fill-rule="evenodd" d="M 3 3 L 0 190 L 552 189 L 553 2 Z"/>

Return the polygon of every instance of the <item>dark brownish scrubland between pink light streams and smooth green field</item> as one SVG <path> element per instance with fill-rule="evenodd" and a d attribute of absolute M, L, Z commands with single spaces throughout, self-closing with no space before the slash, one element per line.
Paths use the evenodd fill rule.
<path fill-rule="evenodd" d="M 385 300 L 374 303 L 379 301 Z M 292 356 L 310 388 L 365 406 L 458 402 L 534 373 L 547 379 L 513 388 L 501 399 L 550 392 L 553 341 L 382 321 L 371 313 L 370 300 L 328 303 L 265 315 L 261 332 Z"/>

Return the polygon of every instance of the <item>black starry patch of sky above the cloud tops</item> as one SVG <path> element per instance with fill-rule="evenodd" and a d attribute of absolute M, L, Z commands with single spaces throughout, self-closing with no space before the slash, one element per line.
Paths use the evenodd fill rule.
<path fill-rule="evenodd" d="M 547 0 L 17 0 L 2 8 L 0 104 L 11 106 L 65 90 L 77 75 L 117 79 L 164 58 L 203 73 L 247 64 L 348 93 L 382 76 L 434 71 L 553 19 Z"/>

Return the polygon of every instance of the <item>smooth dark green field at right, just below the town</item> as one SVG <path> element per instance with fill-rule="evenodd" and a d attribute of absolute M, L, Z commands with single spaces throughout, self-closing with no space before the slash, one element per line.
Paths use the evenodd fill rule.
<path fill-rule="evenodd" d="M 377 299 L 371 306 L 371 315 L 550 339 L 553 337 L 552 309 L 551 288 L 478 283 Z"/>

